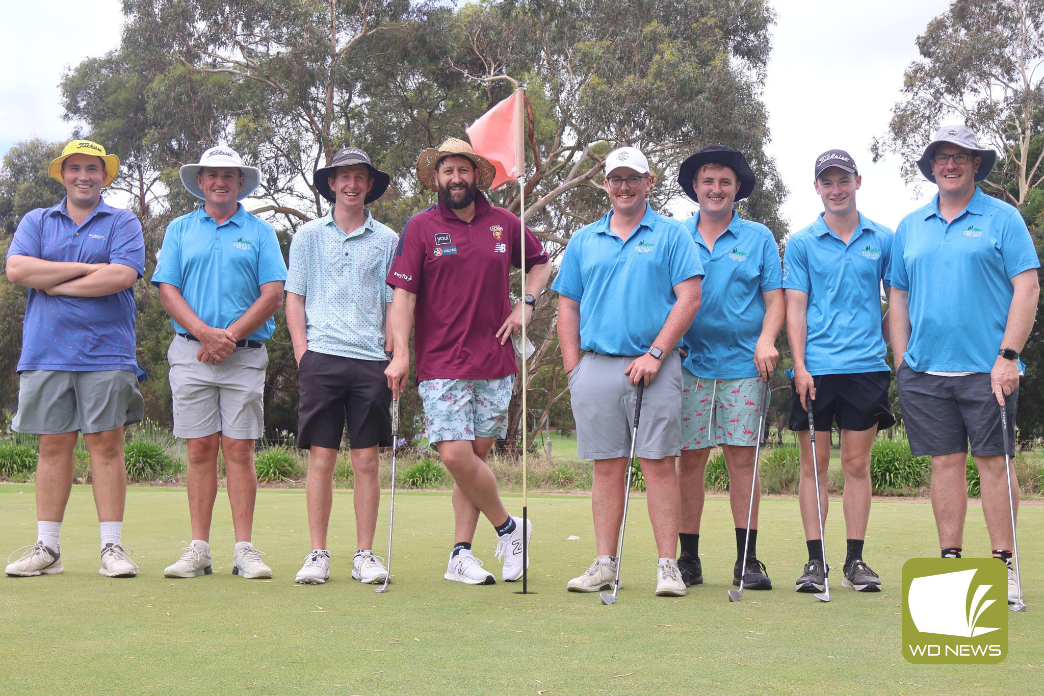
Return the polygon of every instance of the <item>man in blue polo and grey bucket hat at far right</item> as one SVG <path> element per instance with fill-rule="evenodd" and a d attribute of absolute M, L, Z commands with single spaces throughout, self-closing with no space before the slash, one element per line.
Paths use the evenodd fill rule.
<path fill-rule="evenodd" d="M 918 168 L 939 193 L 896 230 L 889 306 L 903 425 L 910 451 L 931 455 L 941 554 L 960 557 L 971 440 L 990 543 L 994 556 L 1007 563 L 1014 600 L 1019 593 L 1000 408 L 1014 425 L 1019 352 L 1034 326 L 1040 262 L 1019 211 L 975 186 L 996 159 L 963 125 L 943 126 L 924 149 Z M 1014 506 L 1014 480 L 1013 487 Z"/>

